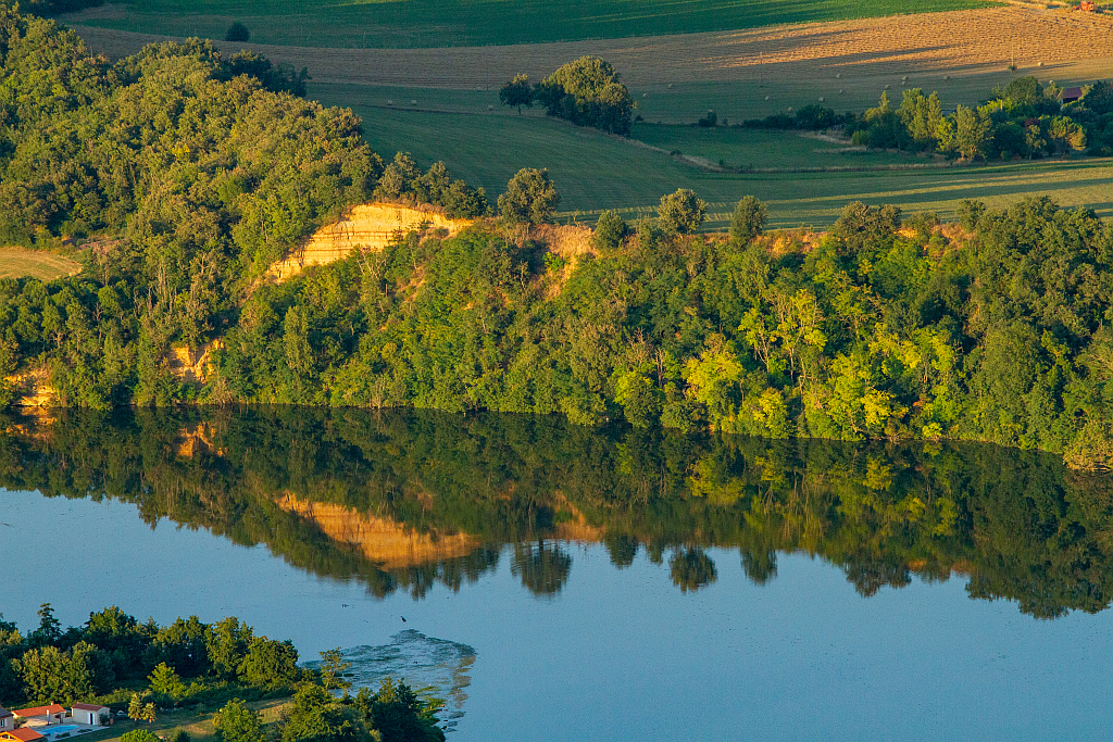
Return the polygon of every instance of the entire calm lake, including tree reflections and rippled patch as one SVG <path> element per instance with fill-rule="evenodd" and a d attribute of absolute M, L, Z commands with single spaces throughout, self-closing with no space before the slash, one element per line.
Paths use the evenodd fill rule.
<path fill-rule="evenodd" d="M 435 685 L 459 741 L 1110 734 L 1113 487 L 1055 457 L 421 413 L 6 427 L 24 629 L 48 601 L 236 615 Z"/>

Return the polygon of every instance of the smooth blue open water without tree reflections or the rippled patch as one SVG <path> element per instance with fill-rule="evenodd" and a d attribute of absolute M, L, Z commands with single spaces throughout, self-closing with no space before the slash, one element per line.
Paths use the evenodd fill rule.
<path fill-rule="evenodd" d="M 965 580 L 863 597 L 845 574 L 781 555 L 765 585 L 737 552 L 681 592 L 641 552 L 627 568 L 569 544 L 560 594 L 534 597 L 510 560 L 422 601 L 368 595 L 131 505 L 0 489 L 0 602 L 24 630 L 50 602 L 65 624 L 119 605 L 159 623 L 236 615 L 303 660 L 386 645 L 404 630 L 474 650 L 450 739 L 1063 740 L 1113 729 L 1113 617 L 1055 621 L 973 601 Z M 402 617 L 405 617 L 405 623 Z M 394 640 L 396 641 L 396 640 Z"/>

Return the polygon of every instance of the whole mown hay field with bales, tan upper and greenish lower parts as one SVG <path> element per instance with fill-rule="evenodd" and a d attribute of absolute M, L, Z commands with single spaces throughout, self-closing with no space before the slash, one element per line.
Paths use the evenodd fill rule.
<path fill-rule="evenodd" d="M 77 28 L 96 51 L 114 58 L 166 38 Z M 378 91 L 383 105 L 391 98 L 436 98 L 441 93 L 433 91 L 443 90 L 445 97 L 451 97 L 447 91 L 482 93 L 476 101 L 482 109 L 498 106 L 499 87 L 518 72 L 536 80 L 571 59 L 597 55 L 622 75 L 646 120 L 667 123 L 693 122 L 708 108 L 732 120 L 818 102 L 860 111 L 883 90 L 898 100 L 906 87 L 937 90 L 947 107 L 968 106 L 1021 75 L 1063 85 L 1113 76 L 1113 16 L 1017 7 L 525 46 L 217 46 L 227 52 L 246 47 L 296 69 L 306 67 L 318 85 L 365 88 L 365 96 Z M 1011 65 L 1017 69 L 1011 71 Z M 402 89 L 420 90 L 398 95 Z"/>

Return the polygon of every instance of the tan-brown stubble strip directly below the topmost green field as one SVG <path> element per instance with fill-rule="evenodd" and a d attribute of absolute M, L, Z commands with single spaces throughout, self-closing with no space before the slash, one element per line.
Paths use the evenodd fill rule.
<path fill-rule="evenodd" d="M 109 57 L 165 40 L 75 26 L 90 47 Z M 924 72 L 961 77 L 1001 71 L 1015 62 L 1058 79 L 1101 77 L 1113 68 L 1113 16 L 1001 7 L 745 31 L 444 49 L 319 49 L 216 42 L 224 50 L 256 50 L 327 83 L 475 89 L 518 72 L 539 79 L 560 65 L 595 55 L 631 87 L 670 82 L 829 79 Z M 1047 73 L 1041 72 L 1041 77 Z"/>

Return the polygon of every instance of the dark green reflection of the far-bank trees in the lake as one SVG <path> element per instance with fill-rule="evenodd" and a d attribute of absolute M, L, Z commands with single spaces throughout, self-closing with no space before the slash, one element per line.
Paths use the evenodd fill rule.
<path fill-rule="evenodd" d="M 736 547 L 757 583 L 778 552 L 841 567 L 863 595 L 961 573 L 973 597 L 1037 616 L 1109 605 L 1110 479 L 1053 456 L 987 445 L 839 444 L 600 431 L 519 416 L 312 408 L 70 410 L 0 424 L 0 485 L 116 497 L 290 564 L 356 577 L 376 595 L 459 590 L 495 568 L 539 595 L 567 583 L 562 542 L 639 553 L 681 590 L 715 580 L 708 547 Z M 465 555 L 376 562 L 284 496 L 386 518 Z M 472 542 L 469 542 L 472 543 Z"/>

